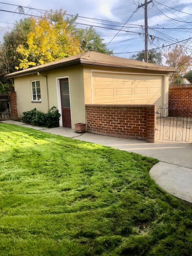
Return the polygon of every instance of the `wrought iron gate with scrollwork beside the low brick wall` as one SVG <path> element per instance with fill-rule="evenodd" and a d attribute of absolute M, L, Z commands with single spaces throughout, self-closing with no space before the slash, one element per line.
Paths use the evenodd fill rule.
<path fill-rule="evenodd" d="M 176 108 L 164 105 L 156 112 L 157 140 L 192 141 L 192 108 Z"/>

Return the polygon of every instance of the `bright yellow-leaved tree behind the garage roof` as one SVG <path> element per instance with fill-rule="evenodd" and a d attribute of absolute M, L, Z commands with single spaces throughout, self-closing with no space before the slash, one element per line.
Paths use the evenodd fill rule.
<path fill-rule="evenodd" d="M 56 11 L 35 19 L 30 18 L 31 30 L 27 47 L 19 45 L 17 52 L 22 55 L 17 69 L 41 65 L 81 53 L 76 33 L 64 20 L 65 12 Z"/>

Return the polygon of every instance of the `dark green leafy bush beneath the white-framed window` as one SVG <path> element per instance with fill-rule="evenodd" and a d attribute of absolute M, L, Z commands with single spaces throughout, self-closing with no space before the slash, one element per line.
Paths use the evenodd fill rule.
<path fill-rule="evenodd" d="M 30 125 L 44 126 L 54 128 L 59 126 L 59 117 L 61 114 L 55 106 L 50 108 L 47 113 L 36 110 L 36 108 L 23 112 L 21 122 Z"/>

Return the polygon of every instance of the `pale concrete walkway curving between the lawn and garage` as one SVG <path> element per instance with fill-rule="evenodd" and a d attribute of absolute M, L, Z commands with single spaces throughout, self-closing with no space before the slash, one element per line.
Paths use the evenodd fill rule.
<path fill-rule="evenodd" d="M 173 141 L 146 143 L 142 140 L 123 139 L 91 133 L 78 134 L 74 130 L 65 127 L 46 129 L 15 121 L 2 122 L 14 123 L 51 134 L 157 158 L 160 162 L 155 164 L 149 172 L 152 179 L 170 194 L 192 203 L 192 143 Z"/>

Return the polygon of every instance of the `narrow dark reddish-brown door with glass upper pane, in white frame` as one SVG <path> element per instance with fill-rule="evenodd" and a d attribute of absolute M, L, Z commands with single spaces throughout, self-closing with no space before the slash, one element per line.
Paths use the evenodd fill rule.
<path fill-rule="evenodd" d="M 68 78 L 59 79 L 63 127 L 71 128 L 71 110 Z"/>

